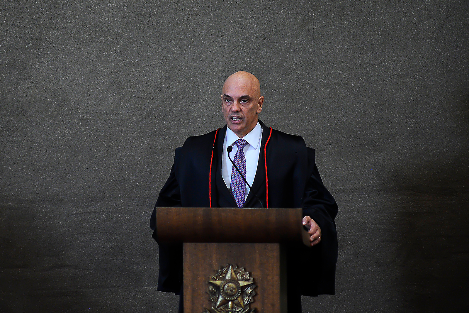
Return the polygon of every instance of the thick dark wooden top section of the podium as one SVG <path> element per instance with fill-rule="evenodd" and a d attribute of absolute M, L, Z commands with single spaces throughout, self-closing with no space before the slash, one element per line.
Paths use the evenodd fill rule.
<path fill-rule="evenodd" d="M 159 207 L 156 220 L 160 242 L 275 243 L 302 241 L 302 217 L 301 209 Z"/>

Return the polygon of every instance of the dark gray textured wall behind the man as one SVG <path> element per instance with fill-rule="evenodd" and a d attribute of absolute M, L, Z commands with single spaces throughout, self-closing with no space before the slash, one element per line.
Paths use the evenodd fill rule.
<path fill-rule="evenodd" d="M 174 148 L 223 125 L 241 69 L 339 203 L 337 293 L 304 312 L 468 312 L 468 12 L 2 1 L 0 312 L 176 311 L 149 217 Z"/>

